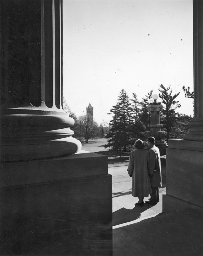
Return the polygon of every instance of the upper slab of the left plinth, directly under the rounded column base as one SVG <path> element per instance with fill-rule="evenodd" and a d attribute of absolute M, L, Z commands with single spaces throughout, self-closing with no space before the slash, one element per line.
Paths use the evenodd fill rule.
<path fill-rule="evenodd" d="M 2 163 L 1 187 L 108 175 L 107 156 L 83 153 L 43 160 Z"/>

